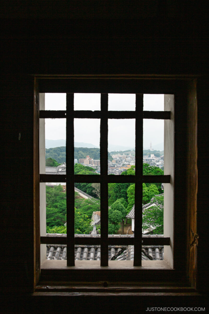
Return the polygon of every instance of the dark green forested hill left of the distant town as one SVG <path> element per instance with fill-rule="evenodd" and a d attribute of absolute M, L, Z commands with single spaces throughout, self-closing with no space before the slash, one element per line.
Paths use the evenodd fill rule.
<path fill-rule="evenodd" d="M 84 147 L 74 147 L 74 158 L 79 160 L 79 158 L 86 158 L 86 155 L 93 159 L 100 159 L 100 149 L 99 148 L 84 148 Z M 46 159 L 53 158 L 59 164 L 66 161 L 66 149 L 65 146 L 54 147 L 46 149 Z M 112 160 L 112 156 L 108 152 L 108 160 Z"/>

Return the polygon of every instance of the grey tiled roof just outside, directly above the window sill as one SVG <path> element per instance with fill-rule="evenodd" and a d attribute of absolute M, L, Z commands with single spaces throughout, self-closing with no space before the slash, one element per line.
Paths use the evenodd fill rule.
<path fill-rule="evenodd" d="M 95 227 L 96 229 L 96 227 Z M 63 236 L 66 234 L 46 234 L 47 236 Z M 77 235 L 80 237 L 100 237 L 98 234 L 94 235 Z M 110 236 L 110 235 L 109 235 Z M 127 237 L 127 235 L 112 235 L 113 237 Z M 163 235 L 154 235 L 155 237 L 163 237 Z M 129 235 L 128 237 L 133 237 Z M 152 236 L 145 236 L 152 237 Z M 49 239 L 50 240 L 50 239 Z M 50 260 L 65 260 L 67 259 L 66 245 L 47 244 L 46 257 Z M 101 249 L 99 245 L 75 245 L 75 260 L 100 260 Z M 112 245 L 108 246 L 109 260 L 133 260 L 134 246 L 133 245 Z M 164 259 L 163 246 L 142 246 L 142 260 L 162 260 Z"/>

